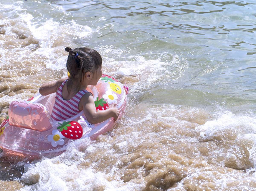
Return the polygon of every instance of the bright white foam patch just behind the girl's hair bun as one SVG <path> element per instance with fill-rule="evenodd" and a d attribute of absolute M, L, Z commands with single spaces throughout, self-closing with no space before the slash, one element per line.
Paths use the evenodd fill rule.
<path fill-rule="evenodd" d="M 75 21 L 71 24 L 60 24 L 50 19 L 40 23 L 39 27 L 36 26 L 37 24 L 31 25 L 30 31 L 38 40 L 40 48 L 30 55 L 46 57 L 46 67 L 53 70 L 66 68 L 67 55 L 63 50 L 64 46 L 76 46 L 74 39 L 88 37 L 92 32 L 88 26 L 81 26 Z"/>

